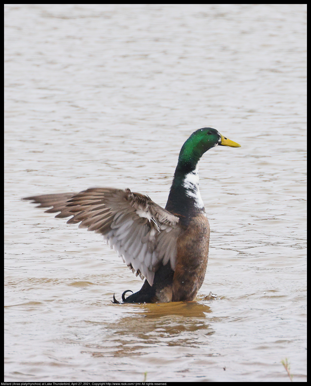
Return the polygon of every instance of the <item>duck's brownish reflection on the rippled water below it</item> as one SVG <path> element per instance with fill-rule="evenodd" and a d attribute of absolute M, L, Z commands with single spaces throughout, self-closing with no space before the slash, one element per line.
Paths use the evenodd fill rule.
<path fill-rule="evenodd" d="M 206 345 L 207 337 L 214 334 L 210 323 L 204 320 L 210 307 L 195 301 L 118 307 L 123 308 L 125 316 L 117 322 L 104 323 L 103 345 L 86 345 L 91 350 L 85 352 L 95 356 L 141 356 L 146 347 Z"/>

